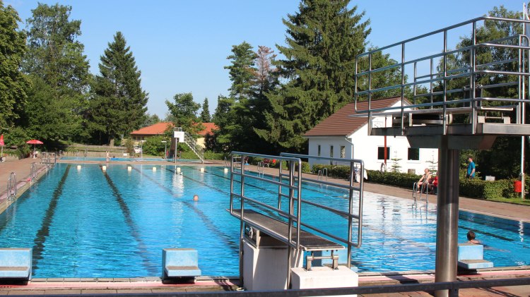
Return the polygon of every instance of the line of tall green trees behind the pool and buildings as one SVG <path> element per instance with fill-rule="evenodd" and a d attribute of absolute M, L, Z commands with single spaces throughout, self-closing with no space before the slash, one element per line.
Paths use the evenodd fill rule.
<path fill-rule="evenodd" d="M 26 20 L 26 30 L 20 30 L 18 13 L 0 0 L 0 30 L 5 36 L 0 40 L 0 132 L 6 134 L 7 144 L 30 138 L 46 140 L 52 147 L 69 142 L 112 144 L 160 121 L 146 112 L 148 93 L 141 88 L 141 71 L 122 32 L 116 32 L 102 51 L 99 73 L 89 73 L 78 41 L 81 20 L 70 19 L 71 9 L 38 4 Z M 519 17 L 502 6 L 490 13 Z M 165 120 L 191 133 L 200 131 L 202 122 L 213 121 L 218 130 L 208 136 L 206 146 L 215 152 L 307 152 L 303 134 L 353 100 L 355 56 L 374 49 L 367 39 L 370 19 L 349 0 L 301 0 L 298 11 L 283 18 L 283 24 L 285 45 L 277 44 L 276 49 L 254 49 L 245 41 L 232 46 L 225 66 L 231 85 L 228 95 L 218 96 L 213 116 L 207 98 L 201 106 L 192 93 L 183 93 L 166 100 Z M 480 34 L 495 37 L 510 30 L 519 29 L 486 25 Z M 466 47 L 469 41 L 470 37 L 461 37 L 457 47 Z M 447 63 L 457 68 L 466 59 L 454 56 Z M 480 59 L 487 63 L 492 58 L 484 53 Z M 380 52 L 370 62 L 372 68 L 397 63 Z M 359 67 L 367 68 L 367 61 L 359 61 Z M 401 83 L 401 70 L 391 68 L 375 75 L 371 87 L 396 83 Z M 367 87 L 367 81 L 358 81 L 357 90 Z M 416 90 L 423 92 L 428 90 Z M 409 99 L 414 94 L 410 88 L 405 93 Z M 401 90 L 389 90 L 376 97 L 399 95 Z M 488 174 L 509 176 L 519 165 L 503 154 L 507 149 L 520 151 L 517 140 L 499 138 L 493 150 L 465 153 L 474 154 Z M 502 169 L 506 166 L 500 162 L 510 169 Z"/>

